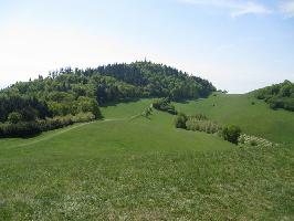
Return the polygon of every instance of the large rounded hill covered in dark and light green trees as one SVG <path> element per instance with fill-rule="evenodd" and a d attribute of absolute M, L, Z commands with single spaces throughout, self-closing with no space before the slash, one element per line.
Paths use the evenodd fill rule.
<path fill-rule="evenodd" d="M 216 87 L 207 80 L 146 61 L 61 69 L 0 92 L 0 136 L 27 135 L 101 118 L 99 106 L 111 102 L 143 97 L 191 99 L 213 91 Z"/>

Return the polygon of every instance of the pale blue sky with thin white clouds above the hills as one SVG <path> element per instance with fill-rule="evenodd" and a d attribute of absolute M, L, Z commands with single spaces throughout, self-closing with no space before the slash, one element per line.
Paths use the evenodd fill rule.
<path fill-rule="evenodd" d="M 231 93 L 294 81 L 294 0 L 0 0 L 0 87 L 145 57 Z"/>

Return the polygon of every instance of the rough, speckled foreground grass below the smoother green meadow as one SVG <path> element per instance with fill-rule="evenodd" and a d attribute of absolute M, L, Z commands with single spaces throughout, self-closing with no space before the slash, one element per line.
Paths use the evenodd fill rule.
<path fill-rule="evenodd" d="M 293 151 L 93 155 L 1 160 L 2 220 L 293 220 Z"/>

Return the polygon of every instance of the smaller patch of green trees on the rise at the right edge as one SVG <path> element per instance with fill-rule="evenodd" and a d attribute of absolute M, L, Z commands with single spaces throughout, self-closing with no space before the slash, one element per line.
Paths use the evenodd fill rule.
<path fill-rule="evenodd" d="M 294 84 L 290 81 L 258 90 L 255 96 L 264 99 L 273 109 L 284 108 L 294 112 Z"/>

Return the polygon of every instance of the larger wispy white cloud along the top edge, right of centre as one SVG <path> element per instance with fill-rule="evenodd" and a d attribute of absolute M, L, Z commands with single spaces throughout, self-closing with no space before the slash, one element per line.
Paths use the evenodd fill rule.
<path fill-rule="evenodd" d="M 220 8 L 222 10 L 229 11 L 231 17 L 240 17 L 244 14 L 269 14 L 272 13 L 270 9 L 265 6 L 244 0 L 179 0 L 181 2 L 195 4 Z"/>

